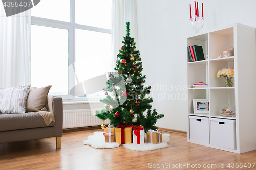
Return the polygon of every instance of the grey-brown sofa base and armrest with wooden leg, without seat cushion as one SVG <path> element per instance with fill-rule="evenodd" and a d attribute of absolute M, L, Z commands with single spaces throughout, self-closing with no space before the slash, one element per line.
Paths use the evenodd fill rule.
<path fill-rule="evenodd" d="M 48 96 L 47 111 L 54 114 L 55 122 L 46 125 L 35 112 L 0 114 L 0 143 L 56 137 L 56 149 L 61 148 L 63 105 L 60 96 Z"/>

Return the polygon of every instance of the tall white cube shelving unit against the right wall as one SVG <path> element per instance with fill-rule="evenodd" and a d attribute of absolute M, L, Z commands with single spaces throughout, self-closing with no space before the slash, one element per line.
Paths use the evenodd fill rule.
<path fill-rule="evenodd" d="M 190 62 L 187 54 L 187 118 L 191 115 L 209 117 L 209 127 L 214 118 L 235 120 L 236 149 L 211 144 L 211 128 L 208 144 L 190 140 L 188 125 L 187 141 L 234 153 L 256 150 L 256 29 L 235 23 L 199 34 L 187 38 L 186 51 L 187 46 L 200 45 L 208 59 Z M 223 51 L 231 47 L 234 48 L 234 56 L 217 58 L 218 54 L 223 54 Z M 232 67 L 235 71 L 233 87 L 225 87 L 225 78 L 217 78 L 217 72 L 222 68 Z M 208 83 L 209 87 L 192 87 L 201 81 Z M 193 99 L 209 99 L 209 114 L 194 114 Z M 232 106 L 236 117 L 220 116 L 221 105 Z"/>

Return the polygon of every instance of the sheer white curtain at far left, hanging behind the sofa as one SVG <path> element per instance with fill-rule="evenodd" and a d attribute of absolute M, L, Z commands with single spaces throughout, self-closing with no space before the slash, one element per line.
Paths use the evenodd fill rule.
<path fill-rule="evenodd" d="M 31 84 L 30 48 L 30 10 L 6 17 L 0 4 L 0 88 Z"/>

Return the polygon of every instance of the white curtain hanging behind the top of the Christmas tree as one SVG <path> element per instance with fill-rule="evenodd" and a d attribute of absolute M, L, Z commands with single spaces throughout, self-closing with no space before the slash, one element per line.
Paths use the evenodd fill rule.
<path fill-rule="evenodd" d="M 112 71 L 116 67 L 117 54 L 126 35 L 126 22 L 130 22 L 131 37 L 134 37 L 138 50 L 136 0 L 112 0 Z"/>

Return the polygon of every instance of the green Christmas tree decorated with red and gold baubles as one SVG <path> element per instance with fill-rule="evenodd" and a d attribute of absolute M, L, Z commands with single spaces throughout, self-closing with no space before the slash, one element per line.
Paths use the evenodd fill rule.
<path fill-rule="evenodd" d="M 142 126 L 145 132 L 157 129 L 157 119 L 164 117 L 152 109 L 153 99 L 147 97 L 151 86 L 144 87 L 146 76 L 142 75 L 140 52 L 136 50 L 134 38 L 130 37 L 130 22 L 126 22 L 127 34 L 123 37 L 123 46 L 117 55 L 117 72 L 112 72 L 106 82 L 106 98 L 100 99 L 105 103 L 105 109 L 96 111 L 101 120 L 110 120 L 114 127 L 118 125 Z M 144 115 L 145 113 L 145 115 Z"/>

